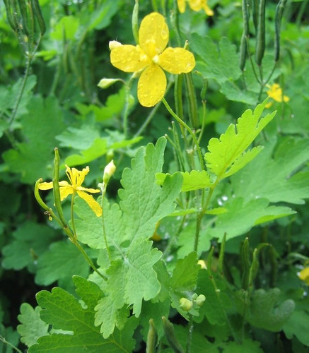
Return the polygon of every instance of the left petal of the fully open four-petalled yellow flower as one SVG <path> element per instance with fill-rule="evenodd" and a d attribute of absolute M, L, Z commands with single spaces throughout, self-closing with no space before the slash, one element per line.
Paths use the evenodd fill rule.
<path fill-rule="evenodd" d="M 136 72 L 145 68 L 151 60 L 139 46 L 121 45 L 110 52 L 110 62 L 124 72 Z"/>

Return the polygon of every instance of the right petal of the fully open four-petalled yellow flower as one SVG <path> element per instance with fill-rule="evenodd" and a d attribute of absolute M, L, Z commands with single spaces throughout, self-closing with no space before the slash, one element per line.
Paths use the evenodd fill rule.
<path fill-rule="evenodd" d="M 166 48 L 159 56 L 159 65 L 170 73 L 188 73 L 195 66 L 191 52 L 183 48 Z"/>

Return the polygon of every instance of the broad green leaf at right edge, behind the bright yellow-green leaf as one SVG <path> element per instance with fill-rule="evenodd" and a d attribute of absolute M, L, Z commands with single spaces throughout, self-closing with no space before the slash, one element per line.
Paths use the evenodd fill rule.
<path fill-rule="evenodd" d="M 242 196 L 245 201 L 267 198 L 272 203 L 302 204 L 309 198 L 309 172 L 298 170 L 308 160 L 307 140 L 290 136 L 277 145 L 270 141 L 254 161 L 232 178 L 235 196 Z"/>

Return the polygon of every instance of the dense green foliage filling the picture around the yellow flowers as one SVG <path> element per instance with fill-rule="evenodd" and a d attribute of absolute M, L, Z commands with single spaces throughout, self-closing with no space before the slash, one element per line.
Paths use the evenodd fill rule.
<path fill-rule="evenodd" d="M 129 92 L 121 81 L 98 88 L 101 78 L 129 82 L 110 64 L 108 43 L 134 44 L 134 1 L 39 2 L 46 32 L 40 38 L 36 20 L 40 45 L 29 59 L 32 39 L 13 32 L 0 1 L 0 352 L 144 352 L 151 318 L 157 352 L 181 352 L 190 327 L 193 353 L 308 352 L 309 283 L 298 278 L 309 261 L 308 2 L 287 2 L 276 66 L 277 3 L 266 4 L 262 70 L 284 103 L 265 100 L 255 77 L 252 16 L 252 62 L 240 68 L 240 3 L 209 1 L 213 17 L 187 6 L 177 32 L 175 1 L 139 1 L 139 21 L 158 11 L 172 47 L 189 41 L 201 124 L 207 79 L 202 167 L 163 104 L 139 105 L 136 80 Z M 165 98 L 177 110 L 175 80 Z M 187 96 L 184 88 L 189 124 Z M 52 179 L 55 147 L 60 180 L 65 164 L 89 165 L 84 186 L 96 188 L 105 165 L 117 165 L 103 200 L 107 242 L 102 219 L 81 198 L 74 205 L 78 241 L 106 281 L 33 196 L 37 179 Z M 68 220 L 70 208 L 64 202 Z M 184 310 L 180 299 L 194 293 L 204 304 Z"/>

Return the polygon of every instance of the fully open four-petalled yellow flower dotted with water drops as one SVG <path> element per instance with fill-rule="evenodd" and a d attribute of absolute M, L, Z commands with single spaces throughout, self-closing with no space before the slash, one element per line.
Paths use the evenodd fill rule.
<path fill-rule="evenodd" d="M 144 107 L 153 107 L 162 100 L 166 89 L 166 76 L 192 71 L 195 59 L 183 48 L 166 48 L 168 25 L 160 13 L 153 12 L 141 21 L 139 45 L 112 45 L 110 61 L 125 72 L 142 71 L 137 85 L 137 97 Z"/>

